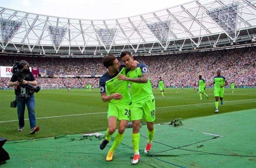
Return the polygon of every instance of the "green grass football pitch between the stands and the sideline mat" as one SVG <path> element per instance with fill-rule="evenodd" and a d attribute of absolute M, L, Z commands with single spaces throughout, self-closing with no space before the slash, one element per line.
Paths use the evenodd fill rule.
<path fill-rule="evenodd" d="M 193 89 L 165 89 L 165 98 L 160 90 L 153 90 L 156 100 L 155 123 L 169 122 L 175 118 L 195 118 L 215 114 L 213 89 L 207 89 L 202 101 Z M 101 100 L 99 89 L 41 90 L 35 93 L 35 114 L 40 131 L 30 135 L 27 109 L 25 127 L 17 132 L 17 108 L 11 108 L 15 98 L 13 90 L 0 91 L 0 137 L 8 140 L 23 140 L 54 137 L 62 134 L 79 134 L 107 129 L 108 103 Z M 256 89 L 225 89 L 224 106 L 219 104 L 219 113 L 256 108 Z M 145 122 L 145 120 L 143 120 Z"/>

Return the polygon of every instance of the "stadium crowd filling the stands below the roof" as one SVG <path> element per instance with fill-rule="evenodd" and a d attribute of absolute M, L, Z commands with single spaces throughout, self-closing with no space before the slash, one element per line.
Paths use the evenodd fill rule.
<path fill-rule="evenodd" d="M 256 86 L 256 47 L 136 56 L 134 59 L 148 65 L 154 86 L 157 86 L 160 76 L 163 76 L 166 87 L 192 86 L 198 81 L 199 75 L 209 86 L 217 69 L 222 71 L 229 85 L 233 81 L 240 86 Z M 52 70 L 55 74 L 102 75 L 106 71 L 101 64 L 102 58 L 0 57 L 1 66 L 12 66 L 20 60 L 29 62 L 30 67 Z M 1 78 L 0 87 L 7 87 L 9 80 Z M 99 85 L 99 78 L 38 78 L 37 81 L 42 87 L 83 87 L 89 83 L 92 87 Z"/>

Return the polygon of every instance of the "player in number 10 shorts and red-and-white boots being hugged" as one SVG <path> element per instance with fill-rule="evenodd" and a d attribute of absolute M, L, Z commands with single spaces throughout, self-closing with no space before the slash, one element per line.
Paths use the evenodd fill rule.
<path fill-rule="evenodd" d="M 125 67 L 131 67 L 133 57 L 131 52 L 122 51 L 120 55 Z M 145 153 L 150 152 L 154 137 L 154 120 L 155 120 L 155 100 L 149 80 L 148 67 L 145 64 L 138 64 L 135 70 L 129 70 L 124 75 L 119 75 L 119 79 L 129 81 L 132 94 L 131 120 L 133 123 L 132 143 L 134 149 L 134 158 L 132 164 L 137 164 L 140 160 L 140 121 L 144 115 L 148 128 L 148 143 L 144 149 Z"/>

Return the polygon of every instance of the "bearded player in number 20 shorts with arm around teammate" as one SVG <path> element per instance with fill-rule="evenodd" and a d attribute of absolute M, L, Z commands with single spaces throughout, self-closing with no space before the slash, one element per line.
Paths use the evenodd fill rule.
<path fill-rule="evenodd" d="M 113 141 L 113 145 L 108 151 L 107 161 L 113 160 L 113 154 L 116 147 L 124 137 L 125 128 L 131 115 L 131 96 L 128 90 L 128 82 L 117 78 L 118 75 L 125 75 L 127 68 L 122 66 L 114 55 L 109 54 L 102 60 L 103 65 L 108 71 L 99 79 L 99 87 L 103 102 L 108 102 L 108 129 L 106 137 L 100 144 L 100 149 L 104 149 L 109 143 L 111 136 L 116 131 L 117 121 L 119 120 L 119 129 Z M 133 68 L 137 66 L 134 63 Z"/>

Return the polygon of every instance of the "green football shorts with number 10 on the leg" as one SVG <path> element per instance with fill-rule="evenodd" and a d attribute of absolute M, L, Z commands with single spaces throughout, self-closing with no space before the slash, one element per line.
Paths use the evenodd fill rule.
<path fill-rule="evenodd" d="M 156 117 L 155 100 L 144 101 L 141 103 L 131 104 L 131 120 L 141 120 L 144 118 L 147 122 L 153 122 Z"/>

